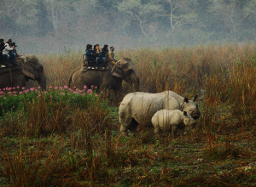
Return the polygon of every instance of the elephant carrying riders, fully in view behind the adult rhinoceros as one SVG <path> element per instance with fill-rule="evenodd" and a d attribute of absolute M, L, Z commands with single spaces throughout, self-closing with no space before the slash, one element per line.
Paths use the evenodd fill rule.
<path fill-rule="evenodd" d="M 110 63 L 103 70 L 86 70 L 83 65 L 75 69 L 69 78 L 68 86 L 83 89 L 84 86 L 91 88 L 95 86 L 101 90 L 113 90 L 114 94 L 123 93 L 122 81 L 128 82 L 139 90 L 139 78 L 137 76 L 137 67 L 133 65 L 131 59 L 119 59 L 116 63 Z"/>

